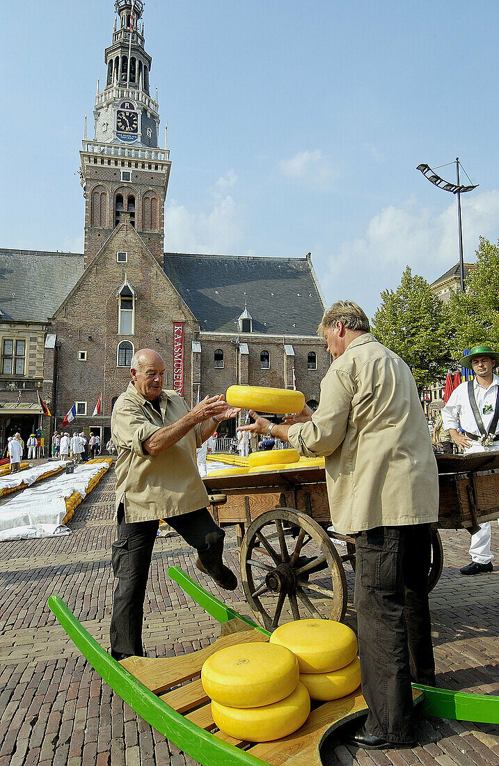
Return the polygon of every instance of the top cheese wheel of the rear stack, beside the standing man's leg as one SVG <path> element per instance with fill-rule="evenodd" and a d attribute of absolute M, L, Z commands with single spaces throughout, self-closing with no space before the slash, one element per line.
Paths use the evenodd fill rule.
<path fill-rule="evenodd" d="M 271 643 L 287 647 L 298 659 L 300 673 L 331 673 L 354 660 L 357 637 L 334 620 L 294 620 L 276 628 Z"/>

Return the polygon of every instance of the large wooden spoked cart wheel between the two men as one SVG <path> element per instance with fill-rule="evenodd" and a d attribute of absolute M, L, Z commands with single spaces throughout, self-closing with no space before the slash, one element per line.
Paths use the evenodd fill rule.
<path fill-rule="evenodd" d="M 274 630 L 303 617 L 343 620 L 347 581 L 333 543 L 310 516 L 276 508 L 255 519 L 241 546 L 246 600 Z"/>

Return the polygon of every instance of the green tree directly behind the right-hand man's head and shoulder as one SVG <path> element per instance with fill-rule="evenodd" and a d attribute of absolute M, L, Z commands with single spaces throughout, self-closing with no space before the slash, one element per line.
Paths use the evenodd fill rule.
<path fill-rule="evenodd" d="M 406 267 L 395 291 L 383 290 L 373 335 L 409 365 L 421 392 L 445 378 L 451 362 L 448 309 L 429 283 Z"/>

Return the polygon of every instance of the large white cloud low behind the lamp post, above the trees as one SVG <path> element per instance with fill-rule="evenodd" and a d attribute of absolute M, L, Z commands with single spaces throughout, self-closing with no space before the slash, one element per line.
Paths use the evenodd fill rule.
<path fill-rule="evenodd" d="M 472 263 L 480 236 L 499 237 L 499 191 L 463 195 L 461 205 L 465 262 Z M 395 289 L 407 265 L 432 283 L 458 257 L 455 199 L 438 213 L 411 198 L 400 208 L 383 208 L 362 237 L 342 243 L 337 254 L 315 257 L 315 264 L 328 303 L 349 297 L 373 316 L 381 290 Z"/>

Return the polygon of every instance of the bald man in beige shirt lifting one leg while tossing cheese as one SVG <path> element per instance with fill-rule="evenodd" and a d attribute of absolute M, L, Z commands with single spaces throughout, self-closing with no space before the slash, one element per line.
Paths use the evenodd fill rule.
<path fill-rule="evenodd" d="M 132 380 L 111 417 L 118 450 L 118 539 L 111 557 L 118 584 L 110 627 L 111 654 L 116 660 L 144 656 L 145 588 L 159 519 L 168 519 L 197 549 L 199 570 L 220 588 L 237 587 L 236 576 L 223 564 L 225 533 L 207 510 L 196 449 L 239 410 L 229 407 L 223 396 L 212 396 L 189 411 L 175 391 L 163 390 L 165 363 L 152 349 L 135 353 L 130 375 Z"/>

